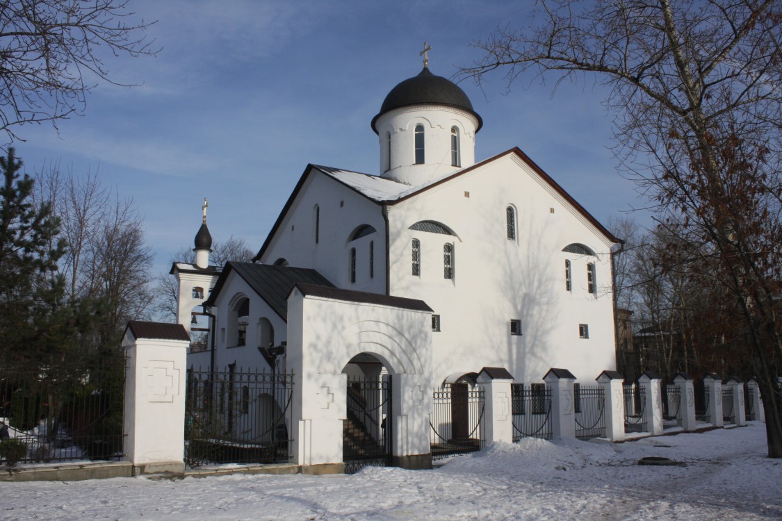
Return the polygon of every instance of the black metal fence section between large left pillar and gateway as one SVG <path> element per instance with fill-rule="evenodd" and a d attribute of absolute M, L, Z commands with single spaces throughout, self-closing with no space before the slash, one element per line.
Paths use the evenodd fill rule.
<path fill-rule="evenodd" d="M 185 462 L 288 462 L 292 390 L 292 373 L 188 369 Z"/>

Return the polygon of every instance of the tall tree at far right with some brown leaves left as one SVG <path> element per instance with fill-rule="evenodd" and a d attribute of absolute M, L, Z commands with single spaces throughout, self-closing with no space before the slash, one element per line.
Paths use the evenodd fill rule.
<path fill-rule="evenodd" d="M 463 70 L 501 68 L 611 87 L 617 154 L 680 237 L 679 262 L 705 266 L 729 295 L 782 458 L 782 6 L 779 0 L 540 0 L 536 25 L 499 30 Z"/>

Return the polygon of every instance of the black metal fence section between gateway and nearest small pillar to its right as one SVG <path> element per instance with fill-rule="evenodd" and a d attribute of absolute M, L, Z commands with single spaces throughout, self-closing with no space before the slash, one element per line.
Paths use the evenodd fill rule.
<path fill-rule="evenodd" d="M 484 391 L 468 384 L 447 384 L 432 395 L 429 441 L 432 459 L 479 451 L 483 448 Z"/>

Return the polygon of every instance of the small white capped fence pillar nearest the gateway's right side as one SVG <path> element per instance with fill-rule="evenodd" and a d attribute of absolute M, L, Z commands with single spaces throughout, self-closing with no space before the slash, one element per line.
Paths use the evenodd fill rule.
<path fill-rule="evenodd" d="M 486 411 L 483 413 L 486 441 L 513 443 L 513 376 L 504 367 L 484 367 L 478 374 L 477 381 L 486 395 Z"/>

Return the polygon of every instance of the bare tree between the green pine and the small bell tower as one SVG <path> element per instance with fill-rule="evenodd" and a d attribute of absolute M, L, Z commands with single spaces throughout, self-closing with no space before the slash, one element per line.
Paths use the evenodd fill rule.
<path fill-rule="evenodd" d="M 100 315 L 84 342 L 106 346 L 128 320 L 149 317 L 152 252 L 144 242 L 142 218 L 132 200 L 103 187 L 97 173 L 63 174 L 54 164 L 35 177 L 36 197 L 52 202 L 58 238 L 67 244 L 59 262 L 66 299 Z"/>

